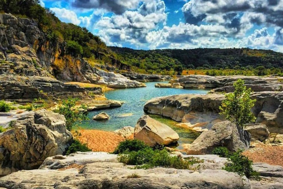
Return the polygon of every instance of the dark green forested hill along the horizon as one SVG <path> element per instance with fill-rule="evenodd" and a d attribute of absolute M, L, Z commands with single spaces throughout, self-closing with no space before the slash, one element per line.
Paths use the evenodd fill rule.
<path fill-rule="evenodd" d="M 168 60 L 175 59 L 184 69 L 241 69 L 283 68 L 283 53 L 272 50 L 249 48 L 196 48 L 196 49 L 164 49 L 164 50 L 133 50 L 130 48 L 110 47 L 113 52 L 125 61 L 145 61 L 154 63 L 155 57 Z"/>

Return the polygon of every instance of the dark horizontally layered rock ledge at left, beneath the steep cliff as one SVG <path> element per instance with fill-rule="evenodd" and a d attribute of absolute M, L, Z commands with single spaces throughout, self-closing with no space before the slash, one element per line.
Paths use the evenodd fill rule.
<path fill-rule="evenodd" d="M 32 101 L 35 98 L 89 98 L 88 91 L 78 85 L 68 85 L 51 77 L 0 75 L 0 99 Z"/>

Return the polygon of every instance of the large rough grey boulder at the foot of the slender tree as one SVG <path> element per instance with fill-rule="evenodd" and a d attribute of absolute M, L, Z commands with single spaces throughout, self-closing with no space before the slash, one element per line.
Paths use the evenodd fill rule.
<path fill-rule="evenodd" d="M 229 121 L 218 122 L 187 145 L 186 151 L 194 155 L 210 154 L 218 146 L 225 146 L 232 152 L 246 150 L 250 146 L 250 134 Z"/>

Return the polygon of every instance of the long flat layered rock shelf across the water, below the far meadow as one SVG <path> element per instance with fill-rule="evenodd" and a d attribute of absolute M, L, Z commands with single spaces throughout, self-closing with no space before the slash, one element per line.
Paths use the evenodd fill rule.
<path fill-rule="evenodd" d="M 170 83 L 179 83 L 184 88 L 216 88 L 212 92 L 233 92 L 233 83 L 238 79 L 245 81 L 245 85 L 254 92 L 282 91 L 282 83 L 278 79 L 283 77 L 256 77 L 256 76 L 207 76 L 188 75 L 171 80 Z"/>

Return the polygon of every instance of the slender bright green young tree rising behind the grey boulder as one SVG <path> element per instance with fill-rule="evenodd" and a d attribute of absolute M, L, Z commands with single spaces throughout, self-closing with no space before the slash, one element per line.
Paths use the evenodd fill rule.
<path fill-rule="evenodd" d="M 256 120 L 254 114 L 251 112 L 256 99 L 252 100 L 250 98 L 251 89 L 246 89 L 243 80 L 238 79 L 233 86 L 235 91 L 225 95 L 225 100 L 222 101 L 219 107 L 220 114 L 224 115 L 227 120 L 243 128 L 246 123 Z"/>

